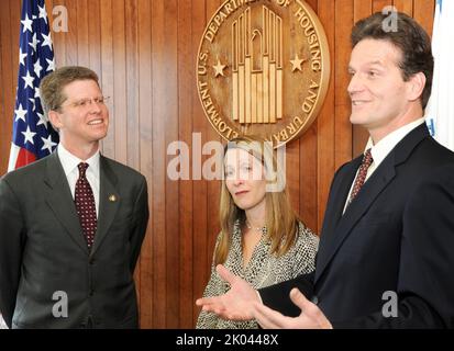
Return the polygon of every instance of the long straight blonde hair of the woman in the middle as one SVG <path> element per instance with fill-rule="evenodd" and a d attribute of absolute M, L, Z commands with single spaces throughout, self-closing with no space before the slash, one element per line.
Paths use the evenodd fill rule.
<path fill-rule="evenodd" d="M 265 225 L 272 245 L 270 253 L 281 256 L 295 244 L 299 222 L 298 215 L 290 205 L 283 166 L 277 163 L 276 150 L 273 149 L 273 144 L 262 137 L 241 136 L 232 139 L 224 148 L 224 158 L 228 150 L 235 148 L 247 151 L 264 166 L 267 179 Z M 275 176 L 274 179 L 269 179 L 270 174 Z M 268 191 L 269 188 L 273 188 L 273 191 Z M 225 185 L 225 177 L 222 178 L 221 183 L 219 216 L 221 240 L 214 252 L 215 264 L 224 263 L 226 260 L 235 222 L 240 219 L 240 225 L 245 223 L 245 212 L 234 203 Z"/>

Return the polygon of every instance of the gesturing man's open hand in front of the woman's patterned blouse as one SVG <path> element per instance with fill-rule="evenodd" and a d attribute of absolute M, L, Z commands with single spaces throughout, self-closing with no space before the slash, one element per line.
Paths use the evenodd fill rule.
<path fill-rule="evenodd" d="M 261 303 L 258 293 L 245 280 L 232 274 L 222 264 L 218 264 L 217 271 L 230 284 L 230 291 L 220 296 L 199 298 L 196 301 L 196 305 L 224 319 L 253 319 L 253 305 Z"/>

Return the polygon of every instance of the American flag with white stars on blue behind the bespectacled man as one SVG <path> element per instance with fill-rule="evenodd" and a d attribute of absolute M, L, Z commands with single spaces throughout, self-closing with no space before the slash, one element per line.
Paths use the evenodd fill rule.
<path fill-rule="evenodd" d="M 23 0 L 18 93 L 8 170 L 14 170 L 55 149 L 58 134 L 41 105 L 41 79 L 55 70 L 54 49 L 44 0 Z"/>

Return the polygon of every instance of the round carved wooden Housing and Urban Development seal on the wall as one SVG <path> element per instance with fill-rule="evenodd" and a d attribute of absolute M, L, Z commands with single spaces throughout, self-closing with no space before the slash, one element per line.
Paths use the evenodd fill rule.
<path fill-rule="evenodd" d="M 197 88 L 211 125 L 230 140 L 258 134 L 276 146 L 304 132 L 330 77 L 326 36 L 299 0 L 228 0 L 197 57 Z"/>

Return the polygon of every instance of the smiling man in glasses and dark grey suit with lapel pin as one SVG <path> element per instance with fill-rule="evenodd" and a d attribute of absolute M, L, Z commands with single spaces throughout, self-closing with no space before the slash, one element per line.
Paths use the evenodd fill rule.
<path fill-rule="evenodd" d="M 10 328 L 136 328 L 134 268 L 147 184 L 99 152 L 98 76 L 63 67 L 41 83 L 57 150 L 0 180 L 0 310 Z"/>

